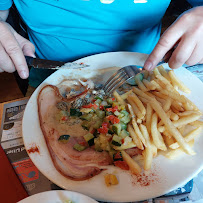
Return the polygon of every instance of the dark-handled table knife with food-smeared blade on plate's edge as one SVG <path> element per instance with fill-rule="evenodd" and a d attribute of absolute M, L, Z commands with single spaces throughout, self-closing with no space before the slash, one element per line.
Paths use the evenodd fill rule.
<path fill-rule="evenodd" d="M 37 69 L 78 69 L 78 68 L 85 68 L 89 65 L 86 65 L 84 63 L 75 63 L 75 62 L 69 62 L 65 63 L 62 61 L 51 61 L 46 59 L 39 59 L 39 58 L 33 58 L 30 56 L 25 56 L 26 62 L 28 66 L 32 66 Z"/>

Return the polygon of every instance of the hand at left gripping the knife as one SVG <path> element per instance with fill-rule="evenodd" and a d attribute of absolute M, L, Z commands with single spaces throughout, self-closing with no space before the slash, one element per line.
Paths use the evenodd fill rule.
<path fill-rule="evenodd" d="M 18 71 L 22 79 L 29 76 L 24 55 L 35 57 L 35 47 L 8 23 L 0 20 L 0 72 Z"/>

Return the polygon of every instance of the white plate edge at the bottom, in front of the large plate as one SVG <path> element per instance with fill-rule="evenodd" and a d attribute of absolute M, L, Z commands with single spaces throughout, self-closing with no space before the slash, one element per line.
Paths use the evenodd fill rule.
<path fill-rule="evenodd" d="M 18 203 L 98 203 L 97 201 L 78 192 L 53 190 L 29 196 Z"/>

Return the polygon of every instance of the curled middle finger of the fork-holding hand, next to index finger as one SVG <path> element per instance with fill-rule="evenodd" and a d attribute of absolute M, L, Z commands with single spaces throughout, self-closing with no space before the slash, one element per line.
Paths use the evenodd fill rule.
<path fill-rule="evenodd" d="M 194 36 L 184 35 L 168 61 L 169 67 L 172 69 L 181 67 L 190 58 L 195 46 Z"/>

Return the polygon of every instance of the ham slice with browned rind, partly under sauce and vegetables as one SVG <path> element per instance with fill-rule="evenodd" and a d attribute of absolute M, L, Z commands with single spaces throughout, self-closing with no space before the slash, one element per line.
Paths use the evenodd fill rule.
<path fill-rule="evenodd" d="M 79 133 L 70 135 L 71 137 L 66 144 L 58 141 L 61 128 L 53 120 L 56 104 L 60 101 L 67 101 L 67 99 L 63 98 L 59 89 L 52 85 L 43 87 L 38 95 L 40 126 L 51 158 L 56 169 L 62 175 L 73 180 L 89 179 L 99 174 L 105 166 L 112 164 L 112 160 L 105 151 L 97 152 L 92 148 L 87 148 L 79 152 L 73 149 L 75 143 L 83 141 L 83 137 L 79 136 Z M 68 131 L 71 126 L 67 125 L 65 128 L 67 129 L 63 127 L 63 131 Z M 82 130 L 81 132 L 84 133 Z"/>

